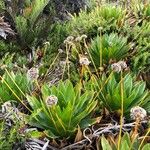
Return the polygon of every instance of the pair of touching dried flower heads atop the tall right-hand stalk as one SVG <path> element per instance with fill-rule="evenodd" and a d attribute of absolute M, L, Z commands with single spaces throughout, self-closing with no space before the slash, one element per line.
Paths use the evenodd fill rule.
<path fill-rule="evenodd" d="M 117 63 L 113 63 L 111 65 L 111 69 L 114 71 L 114 72 L 121 72 L 122 70 L 126 69 L 127 68 L 127 64 L 125 61 L 119 61 Z"/>

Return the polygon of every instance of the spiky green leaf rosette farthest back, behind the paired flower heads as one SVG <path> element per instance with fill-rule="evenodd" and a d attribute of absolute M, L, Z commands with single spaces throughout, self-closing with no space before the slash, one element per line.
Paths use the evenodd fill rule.
<path fill-rule="evenodd" d="M 102 53 L 103 64 L 108 64 L 109 60 L 120 60 L 127 56 L 129 46 L 127 38 L 116 33 L 97 36 L 91 43 L 90 55 L 97 67 L 100 65 L 100 53 Z"/>

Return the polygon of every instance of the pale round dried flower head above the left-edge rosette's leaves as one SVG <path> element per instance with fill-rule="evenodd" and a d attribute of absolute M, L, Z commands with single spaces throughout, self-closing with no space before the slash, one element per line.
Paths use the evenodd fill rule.
<path fill-rule="evenodd" d="M 27 72 L 27 77 L 30 80 L 36 80 L 39 77 L 39 70 L 38 68 L 31 68 Z"/>

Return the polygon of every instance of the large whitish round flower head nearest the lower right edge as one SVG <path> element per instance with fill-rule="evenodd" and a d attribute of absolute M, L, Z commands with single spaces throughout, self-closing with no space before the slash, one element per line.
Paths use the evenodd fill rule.
<path fill-rule="evenodd" d="M 130 110 L 130 117 L 133 120 L 136 119 L 144 120 L 146 116 L 147 116 L 147 112 L 142 107 L 135 106 Z"/>

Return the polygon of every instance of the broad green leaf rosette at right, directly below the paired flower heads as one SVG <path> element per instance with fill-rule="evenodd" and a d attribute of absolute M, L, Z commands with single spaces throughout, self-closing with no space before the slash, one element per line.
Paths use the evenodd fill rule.
<path fill-rule="evenodd" d="M 108 78 L 103 75 L 101 79 L 89 81 L 88 88 L 96 89 L 99 93 L 98 99 L 103 102 L 104 106 L 111 112 L 121 110 L 121 78 L 118 74 L 112 74 Z M 124 115 L 129 115 L 132 107 L 137 105 L 148 104 L 148 91 L 143 81 L 135 81 L 131 74 L 123 77 L 123 110 Z M 100 89 L 102 90 L 100 91 Z M 100 92 L 99 92 L 100 91 Z"/>

